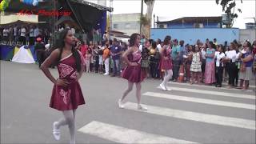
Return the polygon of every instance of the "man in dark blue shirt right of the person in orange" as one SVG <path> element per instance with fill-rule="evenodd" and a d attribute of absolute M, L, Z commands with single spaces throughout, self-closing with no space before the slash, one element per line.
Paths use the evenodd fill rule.
<path fill-rule="evenodd" d="M 112 56 L 112 59 L 114 62 L 112 77 L 114 77 L 116 74 L 120 74 L 121 54 L 122 54 L 122 46 L 120 46 L 118 40 L 114 38 L 113 45 L 110 48 L 110 55 Z"/>

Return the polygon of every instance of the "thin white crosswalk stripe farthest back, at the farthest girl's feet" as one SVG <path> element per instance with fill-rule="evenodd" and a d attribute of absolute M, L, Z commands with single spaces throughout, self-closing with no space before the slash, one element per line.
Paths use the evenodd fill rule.
<path fill-rule="evenodd" d="M 247 98 L 247 99 L 256 99 L 254 95 L 250 94 L 235 94 L 235 93 L 226 93 L 226 92 L 219 92 L 219 91 L 211 91 L 211 90 L 197 90 L 197 89 L 188 89 L 188 88 L 181 88 L 181 87 L 170 87 L 167 86 L 170 90 L 178 90 L 183 92 L 190 92 L 190 93 L 198 93 L 198 94 L 213 94 L 213 95 L 219 95 L 223 97 L 233 97 L 233 98 Z M 158 89 L 161 89 L 160 86 L 158 86 Z"/>

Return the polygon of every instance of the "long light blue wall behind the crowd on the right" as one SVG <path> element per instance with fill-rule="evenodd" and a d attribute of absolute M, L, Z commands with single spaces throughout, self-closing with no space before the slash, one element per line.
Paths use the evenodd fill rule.
<path fill-rule="evenodd" d="M 206 38 L 213 41 L 217 38 L 218 44 L 224 44 L 225 41 L 232 42 L 239 39 L 239 29 L 221 29 L 221 28 L 198 28 L 198 29 L 151 29 L 151 38 L 160 38 L 163 40 L 166 35 L 172 39 L 184 40 L 185 43 L 194 44 L 198 39 L 205 42 Z"/>

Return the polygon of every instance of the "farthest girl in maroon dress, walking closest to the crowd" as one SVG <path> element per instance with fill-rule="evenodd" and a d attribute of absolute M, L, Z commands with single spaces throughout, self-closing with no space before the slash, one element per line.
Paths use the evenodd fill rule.
<path fill-rule="evenodd" d="M 170 78 L 173 75 L 173 65 L 171 62 L 170 54 L 171 54 L 171 48 L 170 48 L 170 35 L 167 35 L 164 40 L 164 46 L 161 50 L 161 69 L 165 71 L 165 77 L 163 78 L 162 83 L 160 84 L 160 87 L 162 90 L 169 90 L 167 88 L 167 82 L 170 80 Z"/>

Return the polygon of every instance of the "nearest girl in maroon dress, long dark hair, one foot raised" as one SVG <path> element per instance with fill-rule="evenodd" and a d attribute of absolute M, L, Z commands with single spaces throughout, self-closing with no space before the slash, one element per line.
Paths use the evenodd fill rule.
<path fill-rule="evenodd" d="M 85 61 L 82 54 L 74 48 L 74 36 L 71 30 L 62 30 L 58 49 L 42 63 L 41 69 L 46 77 L 54 83 L 50 99 L 50 107 L 62 111 L 64 118 L 54 122 L 53 134 L 60 139 L 60 126 L 68 125 L 70 129 L 70 143 L 75 143 L 75 110 L 85 104 L 78 79 L 81 78 Z M 58 62 L 59 78 L 55 79 L 48 67 Z"/>

